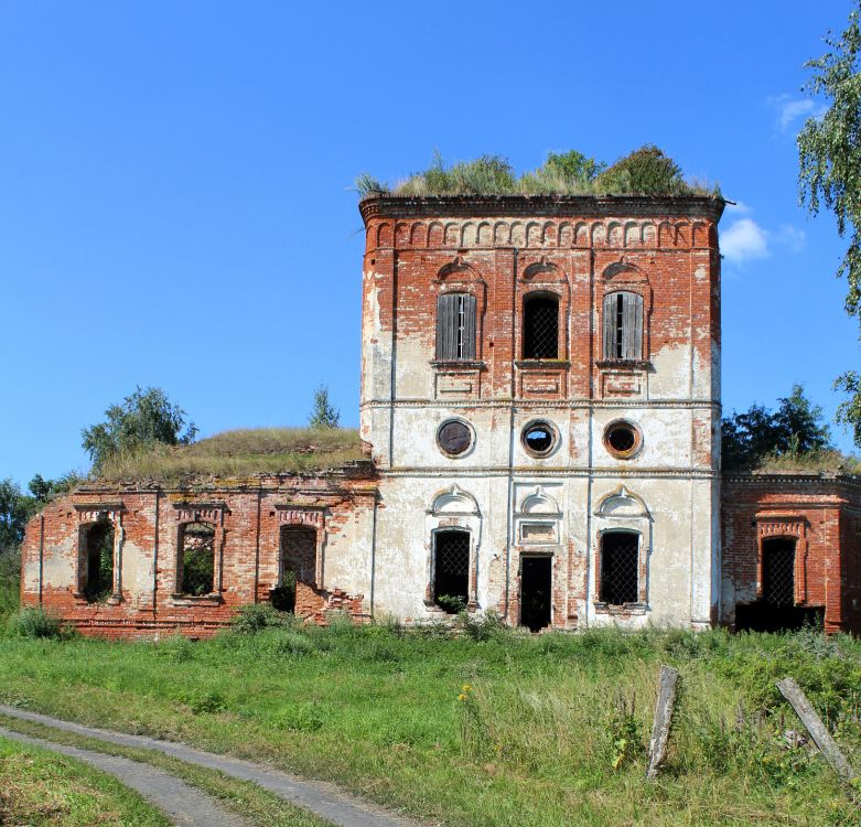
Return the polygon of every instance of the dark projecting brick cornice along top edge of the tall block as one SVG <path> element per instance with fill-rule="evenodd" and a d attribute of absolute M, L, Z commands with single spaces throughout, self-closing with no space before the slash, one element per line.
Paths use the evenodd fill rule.
<path fill-rule="evenodd" d="M 713 195 L 374 195 L 359 202 L 367 226 L 374 218 L 446 217 L 648 217 L 709 218 L 725 202 Z"/>

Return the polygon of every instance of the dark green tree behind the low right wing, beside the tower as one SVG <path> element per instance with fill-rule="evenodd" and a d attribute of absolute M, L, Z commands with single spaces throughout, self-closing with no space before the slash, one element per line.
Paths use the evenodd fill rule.
<path fill-rule="evenodd" d="M 752 405 L 746 411 L 723 419 L 724 468 L 750 468 L 769 455 L 807 454 L 832 447 L 822 408 L 810 402 L 801 385 L 793 385 L 792 394 L 778 401 L 776 411 Z"/>

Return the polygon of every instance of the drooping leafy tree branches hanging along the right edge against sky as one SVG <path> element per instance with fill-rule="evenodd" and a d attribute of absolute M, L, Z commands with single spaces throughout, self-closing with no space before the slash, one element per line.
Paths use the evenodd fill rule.
<path fill-rule="evenodd" d="M 847 279 L 846 311 L 861 322 L 861 0 L 839 39 L 825 39 L 829 51 L 808 61 L 805 90 L 828 101 L 819 118 L 810 118 L 798 133 L 798 194 L 811 215 L 820 206 L 837 218 L 837 232 L 849 237 L 838 276 Z M 850 370 L 835 382 L 849 395 L 837 410 L 837 421 L 852 429 L 861 447 L 861 377 Z"/>

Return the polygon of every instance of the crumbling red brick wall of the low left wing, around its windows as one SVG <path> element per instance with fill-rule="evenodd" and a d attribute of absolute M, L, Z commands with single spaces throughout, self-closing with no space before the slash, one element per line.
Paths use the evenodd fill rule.
<path fill-rule="evenodd" d="M 373 509 L 376 484 L 368 474 L 356 480 L 269 477 L 256 485 L 194 492 L 134 486 L 78 490 L 49 504 L 28 526 L 22 602 L 41 603 L 84 634 L 212 634 L 229 622 L 237 608 L 269 599 L 278 579 L 283 525 L 315 528 L 325 538 L 321 541 L 325 548 L 337 543 L 358 513 Z M 100 509 L 116 514 L 120 503 L 122 599 L 88 603 L 76 593 L 79 529 Z M 214 597 L 175 594 L 179 529 L 192 519 L 214 523 L 216 534 L 222 533 L 220 588 L 216 582 Z M 316 573 L 325 576 L 322 563 Z M 316 622 L 325 622 L 326 612 L 335 610 L 360 616 L 364 597 L 348 594 L 337 583 L 302 583 L 297 614 Z"/>

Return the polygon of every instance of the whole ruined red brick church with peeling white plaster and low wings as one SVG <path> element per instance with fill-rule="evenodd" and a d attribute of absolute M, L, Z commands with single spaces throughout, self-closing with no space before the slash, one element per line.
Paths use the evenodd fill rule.
<path fill-rule="evenodd" d="M 318 622 L 858 631 L 859 482 L 721 474 L 723 205 L 363 200 L 369 459 L 205 490 L 89 482 L 31 522 L 23 602 L 89 634 L 204 635 L 278 604 L 293 572 L 289 608 Z"/>

